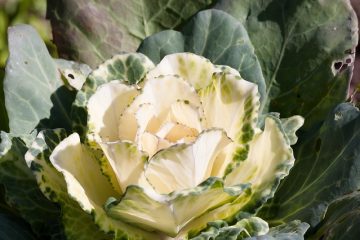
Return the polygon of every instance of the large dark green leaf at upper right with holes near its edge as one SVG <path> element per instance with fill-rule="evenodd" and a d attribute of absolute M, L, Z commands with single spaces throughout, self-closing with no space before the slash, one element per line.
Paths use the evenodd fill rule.
<path fill-rule="evenodd" d="M 266 80 L 263 112 L 301 115 L 304 129 L 346 97 L 357 20 L 348 0 L 220 0 L 216 8 L 242 22 Z M 352 64 L 348 64 L 352 65 Z"/>

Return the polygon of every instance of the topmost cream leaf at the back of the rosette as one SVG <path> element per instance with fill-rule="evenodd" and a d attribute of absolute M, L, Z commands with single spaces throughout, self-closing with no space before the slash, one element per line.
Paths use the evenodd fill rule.
<path fill-rule="evenodd" d="M 214 65 L 204 57 L 193 53 L 174 53 L 165 56 L 147 77 L 179 75 L 195 89 L 200 89 L 211 82 L 214 71 Z"/>

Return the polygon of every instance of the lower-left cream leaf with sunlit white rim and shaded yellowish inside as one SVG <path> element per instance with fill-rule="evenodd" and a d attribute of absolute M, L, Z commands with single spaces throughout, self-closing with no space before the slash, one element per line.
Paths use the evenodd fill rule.
<path fill-rule="evenodd" d="M 56 146 L 50 161 L 63 174 L 69 195 L 88 213 L 102 206 L 109 197 L 118 196 L 90 150 L 80 143 L 77 133 Z"/>

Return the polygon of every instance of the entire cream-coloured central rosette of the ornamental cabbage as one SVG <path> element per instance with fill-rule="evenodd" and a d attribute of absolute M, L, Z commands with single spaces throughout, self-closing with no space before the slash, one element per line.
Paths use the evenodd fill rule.
<path fill-rule="evenodd" d="M 101 158 L 74 133 L 50 161 L 85 211 L 183 236 L 254 212 L 292 167 L 303 119 L 268 115 L 261 130 L 259 98 L 230 67 L 168 55 L 141 86 L 110 81 L 89 99 L 87 141 Z"/>

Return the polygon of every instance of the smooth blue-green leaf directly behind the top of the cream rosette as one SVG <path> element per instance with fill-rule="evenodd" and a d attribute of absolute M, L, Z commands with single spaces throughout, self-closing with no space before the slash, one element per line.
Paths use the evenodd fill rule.
<path fill-rule="evenodd" d="M 148 37 L 138 52 L 158 63 L 165 55 L 176 52 L 193 52 L 208 58 L 212 63 L 228 65 L 241 76 L 256 83 L 262 98 L 265 80 L 245 28 L 235 18 L 218 10 L 198 13 L 181 33 L 164 31 Z"/>

